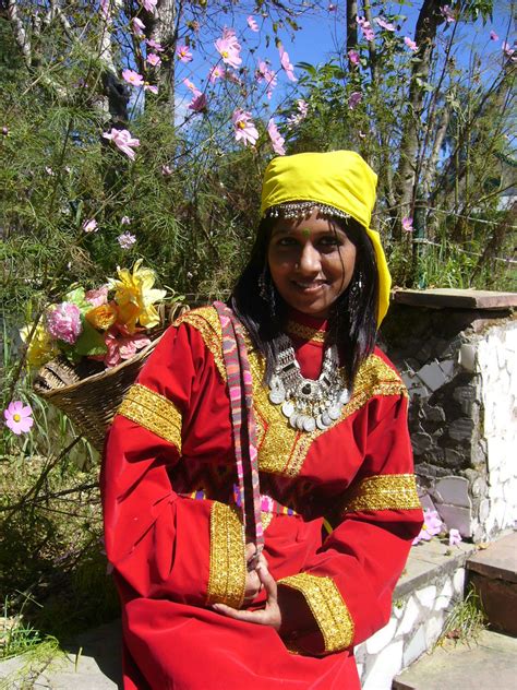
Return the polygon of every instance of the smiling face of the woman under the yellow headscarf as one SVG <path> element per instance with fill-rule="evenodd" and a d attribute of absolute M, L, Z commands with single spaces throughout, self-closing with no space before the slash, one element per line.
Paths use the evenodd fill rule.
<path fill-rule="evenodd" d="M 298 311 L 325 319 L 350 284 L 356 246 L 340 228 L 313 211 L 303 221 L 277 221 L 267 260 L 284 300 Z"/>

